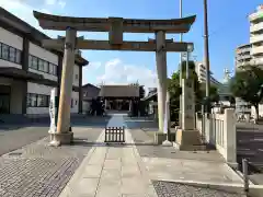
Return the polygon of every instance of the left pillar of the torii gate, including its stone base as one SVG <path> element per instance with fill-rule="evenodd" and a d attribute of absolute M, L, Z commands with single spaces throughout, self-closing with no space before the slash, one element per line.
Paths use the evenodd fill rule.
<path fill-rule="evenodd" d="M 73 84 L 76 36 L 76 30 L 70 27 L 66 30 L 57 132 L 54 134 L 50 142 L 53 146 L 71 143 L 73 140 L 73 132 L 70 130 L 70 103 Z"/>

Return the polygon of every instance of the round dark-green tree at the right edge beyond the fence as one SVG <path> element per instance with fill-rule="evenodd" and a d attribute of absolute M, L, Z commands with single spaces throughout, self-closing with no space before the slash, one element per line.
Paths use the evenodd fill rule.
<path fill-rule="evenodd" d="M 259 104 L 263 97 L 262 88 L 263 70 L 253 66 L 247 66 L 245 69 L 237 71 L 230 82 L 232 94 L 255 107 L 255 120 L 259 118 Z"/>

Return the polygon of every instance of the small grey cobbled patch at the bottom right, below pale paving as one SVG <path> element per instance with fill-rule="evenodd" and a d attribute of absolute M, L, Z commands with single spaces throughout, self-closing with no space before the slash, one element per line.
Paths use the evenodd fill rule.
<path fill-rule="evenodd" d="M 185 184 L 152 181 L 158 197 L 244 197 L 241 194 L 227 193 L 211 188 L 195 187 Z"/>

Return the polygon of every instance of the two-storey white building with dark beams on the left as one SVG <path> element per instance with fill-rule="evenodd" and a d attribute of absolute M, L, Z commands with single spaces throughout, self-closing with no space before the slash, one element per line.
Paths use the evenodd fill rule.
<path fill-rule="evenodd" d="M 48 50 L 48 38 L 24 21 L 0 8 L 0 114 L 48 114 L 53 88 L 59 92 L 62 51 Z M 71 112 L 82 112 L 82 67 L 76 55 Z"/>

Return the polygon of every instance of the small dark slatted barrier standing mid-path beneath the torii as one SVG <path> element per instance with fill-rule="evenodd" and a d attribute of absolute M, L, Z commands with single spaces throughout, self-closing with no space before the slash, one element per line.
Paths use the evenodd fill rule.
<path fill-rule="evenodd" d="M 106 127 L 104 142 L 105 143 L 124 143 L 125 127 Z"/>

